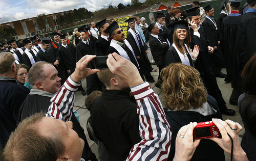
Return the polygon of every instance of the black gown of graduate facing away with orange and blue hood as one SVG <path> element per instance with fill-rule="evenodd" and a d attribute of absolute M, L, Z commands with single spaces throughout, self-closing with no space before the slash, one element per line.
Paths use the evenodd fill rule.
<path fill-rule="evenodd" d="M 241 24 L 242 15 L 240 16 L 227 16 L 223 19 L 223 43 L 224 43 L 224 57 L 227 63 L 227 74 L 232 76 L 234 80 L 234 53 L 236 48 L 236 39 L 238 35 L 238 28 Z M 231 81 L 233 85 L 233 81 Z"/>

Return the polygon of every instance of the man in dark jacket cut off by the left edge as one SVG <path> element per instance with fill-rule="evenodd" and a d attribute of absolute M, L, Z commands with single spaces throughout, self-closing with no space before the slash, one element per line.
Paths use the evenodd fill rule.
<path fill-rule="evenodd" d="M 29 89 L 18 84 L 15 59 L 11 52 L 0 53 L 0 144 L 4 149 L 11 132 L 17 127 L 20 105 Z"/>

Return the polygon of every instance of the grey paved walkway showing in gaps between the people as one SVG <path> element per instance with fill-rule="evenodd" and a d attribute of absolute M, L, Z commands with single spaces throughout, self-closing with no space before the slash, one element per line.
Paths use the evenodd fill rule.
<path fill-rule="evenodd" d="M 153 65 L 153 68 L 157 68 L 157 66 Z M 222 73 L 226 73 L 226 69 L 223 68 Z M 155 81 L 157 81 L 158 72 L 152 72 L 151 74 L 154 77 Z M 218 82 L 219 88 L 221 89 L 222 96 L 223 96 L 224 100 L 226 101 L 227 108 L 233 109 L 236 111 L 236 115 L 234 115 L 234 116 L 223 115 L 223 120 L 230 119 L 232 121 L 240 123 L 243 126 L 242 119 L 241 119 L 241 116 L 238 111 L 238 106 L 229 104 L 229 97 L 232 92 L 231 84 L 225 83 L 224 78 L 217 78 L 217 82 Z M 86 87 L 86 80 L 83 80 L 82 84 L 83 84 L 83 87 Z M 162 102 L 161 90 L 159 88 L 155 87 L 155 83 L 150 83 L 150 85 L 153 88 L 153 90 L 155 91 L 155 93 L 159 95 L 159 98 Z M 84 133 L 86 133 L 86 137 L 87 137 L 89 146 L 91 147 L 92 151 L 96 154 L 96 156 L 98 158 L 97 144 L 90 140 L 90 138 L 88 136 L 87 129 L 86 129 L 86 123 L 87 123 L 87 119 L 90 116 L 90 112 L 86 109 L 86 106 L 84 105 L 85 98 L 86 98 L 86 96 L 82 96 L 81 92 L 76 93 L 74 110 L 76 110 L 79 115 L 79 119 L 81 120 L 81 126 L 84 128 Z M 170 126 L 172 126 L 172 125 L 170 125 Z M 244 133 L 244 129 L 240 132 L 241 137 L 242 137 L 243 133 Z M 227 154 L 226 154 L 226 160 L 230 160 L 230 157 Z"/>

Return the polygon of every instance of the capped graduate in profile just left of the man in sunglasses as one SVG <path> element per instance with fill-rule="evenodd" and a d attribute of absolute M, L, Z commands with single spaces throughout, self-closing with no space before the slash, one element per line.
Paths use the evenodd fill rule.
<path fill-rule="evenodd" d="M 96 56 L 107 56 L 108 48 L 110 46 L 109 33 L 104 33 L 106 28 L 108 28 L 109 23 L 106 22 L 106 18 L 96 23 L 98 31 L 101 33 L 101 36 L 95 42 L 95 54 Z"/>

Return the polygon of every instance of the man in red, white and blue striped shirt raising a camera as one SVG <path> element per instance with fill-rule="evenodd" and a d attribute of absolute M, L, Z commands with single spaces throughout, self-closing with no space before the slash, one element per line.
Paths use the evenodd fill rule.
<path fill-rule="evenodd" d="M 33 159 L 31 153 L 37 152 L 35 156 L 41 155 L 42 160 L 46 160 L 50 155 L 55 159 L 81 159 L 84 142 L 72 129 L 71 111 L 74 105 L 75 92 L 81 84 L 81 79 L 99 71 L 87 68 L 88 62 L 93 58 L 95 56 L 84 56 L 76 64 L 75 72 L 52 97 L 52 104 L 49 106 L 47 117 L 32 116 L 20 123 L 7 143 L 8 148 L 5 149 L 5 157 L 13 157 L 10 160 L 19 160 L 19 156 Z M 143 82 L 135 65 L 117 53 L 109 55 L 107 64 L 113 74 L 130 86 L 137 101 L 137 113 L 140 117 L 139 130 L 142 140 L 132 147 L 126 160 L 167 160 L 172 132 L 158 95 L 147 82 Z M 33 132 L 29 132 L 28 135 L 27 130 Z M 34 138 L 33 135 L 36 137 Z M 40 140 L 42 143 L 38 143 Z M 29 150 L 22 152 L 26 149 L 19 147 L 22 147 L 24 142 L 36 142 L 37 144 L 26 144 L 26 149 Z M 44 145 L 46 146 L 44 147 Z M 56 149 L 52 147 L 56 147 Z"/>

